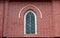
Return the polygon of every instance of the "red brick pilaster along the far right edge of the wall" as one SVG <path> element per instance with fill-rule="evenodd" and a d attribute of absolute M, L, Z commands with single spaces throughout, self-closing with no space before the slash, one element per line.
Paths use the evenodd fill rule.
<path fill-rule="evenodd" d="M 54 36 L 60 36 L 60 1 L 53 1 Z"/>

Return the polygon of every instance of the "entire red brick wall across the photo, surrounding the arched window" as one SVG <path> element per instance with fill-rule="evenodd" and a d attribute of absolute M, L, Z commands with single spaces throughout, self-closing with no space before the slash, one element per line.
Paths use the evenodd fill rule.
<path fill-rule="evenodd" d="M 59 30 L 59 13 L 60 1 L 50 2 L 0 2 L 0 36 L 3 37 L 53 37 L 60 36 Z M 32 4 L 38 7 L 42 13 L 42 19 L 38 10 L 34 7 L 27 7 L 21 12 L 19 11 L 26 5 Z M 4 8 L 5 7 L 5 8 Z M 31 8 L 37 15 L 37 35 L 24 35 L 24 14 L 27 9 Z M 4 16 L 4 18 L 3 18 Z M 2 29 L 3 27 L 3 29 Z"/>

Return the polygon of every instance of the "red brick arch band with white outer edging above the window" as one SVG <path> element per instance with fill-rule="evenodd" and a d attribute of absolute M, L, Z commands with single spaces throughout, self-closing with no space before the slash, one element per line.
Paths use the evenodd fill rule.
<path fill-rule="evenodd" d="M 20 16 L 21 16 L 22 13 L 25 14 L 26 11 L 28 11 L 28 10 L 34 11 L 34 12 L 36 13 L 36 15 L 39 15 L 40 18 L 42 18 L 42 13 L 41 13 L 41 11 L 40 11 L 35 5 L 31 5 L 31 4 L 23 7 L 23 8 L 20 10 L 20 12 L 19 12 L 19 18 L 20 18 Z"/>

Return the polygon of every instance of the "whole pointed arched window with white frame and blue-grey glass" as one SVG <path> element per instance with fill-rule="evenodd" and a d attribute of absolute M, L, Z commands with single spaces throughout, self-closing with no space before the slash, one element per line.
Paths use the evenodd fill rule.
<path fill-rule="evenodd" d="M 24 34 L 37 34 L 36 14 L 29 10 L 24 15 Z"/>

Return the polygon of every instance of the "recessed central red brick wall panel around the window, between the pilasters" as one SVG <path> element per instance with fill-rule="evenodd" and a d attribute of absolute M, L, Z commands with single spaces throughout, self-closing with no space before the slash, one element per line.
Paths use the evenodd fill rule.
<path fill-rule="evenodd" d="M 28 8 L 24 9 L 24 11 L 21 13 L 21 18 L 19 18 L 19 11 L 21 8 L 28 4 L 33 4 L 37 6 L 41 13 L 42 13 L 42 19 L 40 18 L 39 12 L 32 7 L 33 10 L 35 10 L 35 13 L 37 14 L 37 26 L 38 26 L 38 34 L 37 35 L 24 35 L 24 11 L 26 11 Z M 53 36 L 53 27 L 52 27 L 52 10 L 51 10 L 51 2 L 9 2 L 8 6 L 8 12 L 6 12 L 7 20 L 5 21 L 5 31 L 3 36 L 7 37 L 50 37 Z M 31 8 L 31 7 L 30 7 Z"/>

